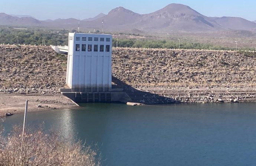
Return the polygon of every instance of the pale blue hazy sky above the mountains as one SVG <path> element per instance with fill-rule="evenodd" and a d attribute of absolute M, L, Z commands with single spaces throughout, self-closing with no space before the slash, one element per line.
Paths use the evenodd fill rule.
<path fill-rule="evenodd" d="M 232 16 L 256 20 L 256 0 L 5 0 L 0 13 L 32 15 L 39 20 L 57 18 L 90 18 L 108 14 L 122 6 L 135 13 L 146 14 L 170 3 L 181 3 L 206 16 Z"/>

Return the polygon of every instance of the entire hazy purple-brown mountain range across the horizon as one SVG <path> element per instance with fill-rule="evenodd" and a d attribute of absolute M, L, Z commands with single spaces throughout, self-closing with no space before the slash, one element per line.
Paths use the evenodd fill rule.
<path fill-rule="evenodd" d="M 255 31 L 256 20 L 239 17 L 207 17 L 183 4 L 168 6 L 149 14 L 138 14 L 123 7 L 101 13 L 94 18 L 80 20 L 81 29 L 137 32 L 216 32 L 225 30 Z M 36 20 L 32 17 L 17 17 L 0 13 L 0 25 L 40 26 L 49 28 L 78 28 L 78 19 Z"/>

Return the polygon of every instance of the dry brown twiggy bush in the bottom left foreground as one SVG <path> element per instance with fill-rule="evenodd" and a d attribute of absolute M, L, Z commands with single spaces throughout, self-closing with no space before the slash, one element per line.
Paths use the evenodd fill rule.
<path fill-rule="evenodd" d="M 0 166 L 99 166 L 96 152 L 71 143 L 58 132 L 29 130 L 22 139 L 22 128 L 14 127 L 6 138 L 0 135 Z"/>

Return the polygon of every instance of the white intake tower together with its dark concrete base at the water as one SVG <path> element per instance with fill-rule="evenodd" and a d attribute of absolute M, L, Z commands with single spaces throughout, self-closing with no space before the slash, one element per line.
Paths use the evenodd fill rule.
<path fill-rule="evenodd" d="M 112 89 L 112 35 L 69 33 L 66 84 L 60 92 L 78 103 L 130 100 Z"/>

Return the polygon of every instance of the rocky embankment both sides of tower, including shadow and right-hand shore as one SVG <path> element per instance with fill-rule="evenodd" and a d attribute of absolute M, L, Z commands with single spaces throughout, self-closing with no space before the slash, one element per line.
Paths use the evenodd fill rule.
<path fill-rule="evenodd" d="M 256 56 L 238 52 L 113 49 L 112 75 L 114 87 L 142 103 L 256 99 Z M 0 46 L 1 96 L 59 94 L 65 77 L 66 56 L 50 47 Z"/>

